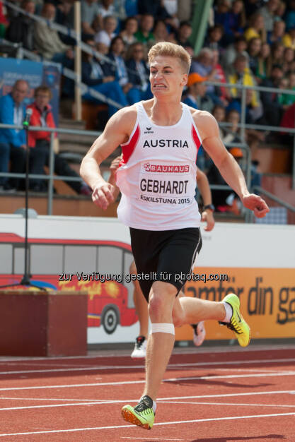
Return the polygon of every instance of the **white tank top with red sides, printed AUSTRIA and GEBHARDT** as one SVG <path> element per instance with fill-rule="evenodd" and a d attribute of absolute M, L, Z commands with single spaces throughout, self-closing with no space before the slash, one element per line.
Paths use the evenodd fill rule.
<path fill-rule="evenodd" d="M 122 193 L 119 220 L 135 229 L 199 227 L 196 189 L 197 150 L 202 141 L 190 109 L 173 126 L 158 126 L 142 102 L 127 143 L 122 144 L 117 186 Z"/>

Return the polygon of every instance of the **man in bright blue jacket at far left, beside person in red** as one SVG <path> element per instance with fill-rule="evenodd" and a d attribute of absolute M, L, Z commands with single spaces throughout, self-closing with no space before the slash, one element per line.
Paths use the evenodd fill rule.
<path fill-rule="evenodd" d="M 17 80 L 11 93 L 0 98 L 0 123 L 22 126 L 25 116 L 23 100 L 28 95 L 28 83 Z M 11 160 L 11 172 L 23 173 L 25 167 L 25 131 L 19 129 L 0 129 L 0 171 L 8 172 Z M 0 178 L 2 190 L 19 189 L 21 179 Z"/>

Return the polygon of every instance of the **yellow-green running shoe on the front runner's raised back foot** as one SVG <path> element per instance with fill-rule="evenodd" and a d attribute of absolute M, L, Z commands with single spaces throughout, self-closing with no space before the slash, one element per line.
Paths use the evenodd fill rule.
<path fill-rule="evenodd" d="M 233 333 L 238 339 L 238 343 L 241 347 L 247 347 L 250 342 L 250 327 L 248 323 L 243 319 L 240 311 L 240 299 L 234 293 L 229 293 L 222 299 L 222 302 L 227 302 L 233 309 L 233 316 L 231 316 L 231 322 L 220 322 L 222 325 L 226 325 L 227 328 L 233 330 Z"/>

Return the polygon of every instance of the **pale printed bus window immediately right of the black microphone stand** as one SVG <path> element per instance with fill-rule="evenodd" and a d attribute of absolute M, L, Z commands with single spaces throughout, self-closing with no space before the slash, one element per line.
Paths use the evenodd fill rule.
<path fill-rule="evenodd" d="M 30 272 L 33 275 L 58 275 L 62 271 L 62 246 L 30 246 Z"/>

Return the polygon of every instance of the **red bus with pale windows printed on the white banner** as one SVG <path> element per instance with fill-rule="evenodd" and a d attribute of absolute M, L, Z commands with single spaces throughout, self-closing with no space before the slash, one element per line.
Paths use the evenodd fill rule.
<path fill-rule="evenodd" d="M 0 285 L 21 281 L 24 256 L 23 237 L 0 233 Z M 132 282 L 126 278 L 132 259 L 129 244 L 120 241 L 28 239 L 32 284 L 52 290 L 86 290 L 88 327 L 102 324 L 108 334 L 118 324 L 128 326 L 138 320 Z"/>

